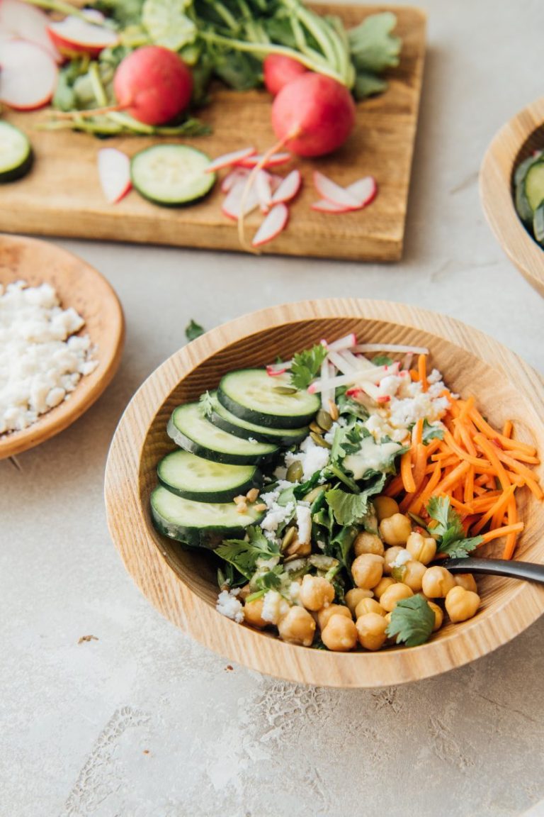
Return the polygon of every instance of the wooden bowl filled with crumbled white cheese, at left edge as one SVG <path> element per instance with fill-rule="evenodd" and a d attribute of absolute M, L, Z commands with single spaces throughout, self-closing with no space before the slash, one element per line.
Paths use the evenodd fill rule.
<path fill-rule="evenodd" d="M 0 235 L 0 459 L 81 417 L 112 380 L 124 332 L 117 295 L 85 261 Z"/>

